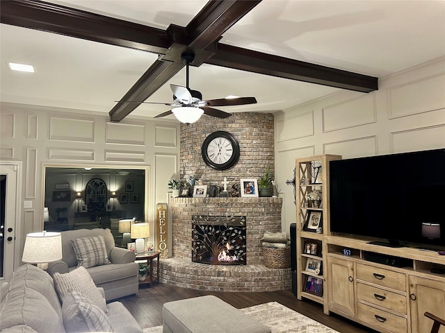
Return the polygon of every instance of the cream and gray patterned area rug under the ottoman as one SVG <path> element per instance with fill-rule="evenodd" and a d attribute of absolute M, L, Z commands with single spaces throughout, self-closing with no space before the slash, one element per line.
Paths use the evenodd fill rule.
<path fill-rule="evenodd" d="M 270 327 L 272 333 L 339 333 L 277 302 L 254 305 L 240 310 Z M 162 326 L 146 328 L 143 333 L 162 333 Z"/>

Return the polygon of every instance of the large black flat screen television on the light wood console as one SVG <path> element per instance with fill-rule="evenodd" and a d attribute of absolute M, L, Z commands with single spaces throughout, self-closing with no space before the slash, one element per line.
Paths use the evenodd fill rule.
<path fill-rule="evenodd" d="M 336 160 L 329 178 L 331 232 L 445 247 L 445 149 Z M 422 223 L 439 225 L 439 238 Z"/>

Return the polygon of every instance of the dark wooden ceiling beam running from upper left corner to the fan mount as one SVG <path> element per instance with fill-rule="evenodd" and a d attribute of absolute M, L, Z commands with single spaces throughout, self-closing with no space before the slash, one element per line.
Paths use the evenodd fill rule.
<path fill-rule="evenodd" d="M 0 22 L 154 53 L 172 45 L 162 29 L 39 0 L 1 0 Z"/>

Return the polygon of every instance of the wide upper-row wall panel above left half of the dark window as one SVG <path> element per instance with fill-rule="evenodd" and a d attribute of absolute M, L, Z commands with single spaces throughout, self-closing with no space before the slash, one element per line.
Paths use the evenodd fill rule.
<path fill-rule="evenodd" d="M 92 120 L 49 119 L 49 139 L 69 142 L 95 142 L 95 122 Z"/>

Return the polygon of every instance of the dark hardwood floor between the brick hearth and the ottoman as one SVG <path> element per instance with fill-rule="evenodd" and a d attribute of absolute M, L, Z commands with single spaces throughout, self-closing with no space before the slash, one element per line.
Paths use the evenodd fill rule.
<path fill-rule="evenodd" d="M 137 296 L 128 296 L 118 299 L 122 302 L 131 314 L 136 318 L 141 328 L 162 325 L 162 305 L 172 300 L 182 300 L 204 295 L 218 296 L 234 307 L 252 307 L 266 302 L 279 302 L 295 311 L 304 314 L 324 325 L 332 327 L 339 332 L 347 333 L 369 333 L 375 332 L 367 327 L 348 321 L 341 316 L 323 314 L 321 305 L 309 300 L 300 301 L 289 291 L 268 291 L 264 293 L 227 293 L 219 291 L 200 291 L 172 287 L 168 284 L 154 284 L 152 287 L 140 286 Z"/>

